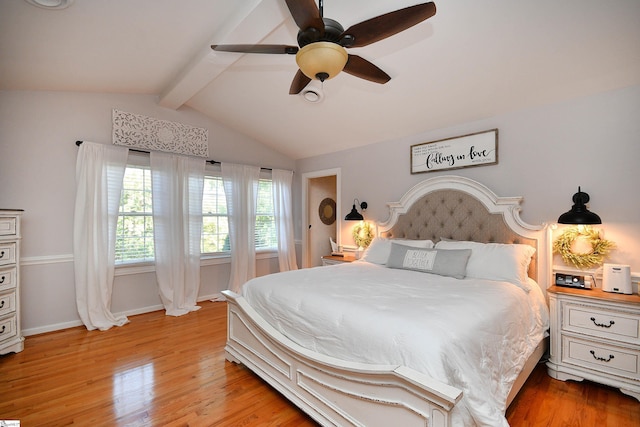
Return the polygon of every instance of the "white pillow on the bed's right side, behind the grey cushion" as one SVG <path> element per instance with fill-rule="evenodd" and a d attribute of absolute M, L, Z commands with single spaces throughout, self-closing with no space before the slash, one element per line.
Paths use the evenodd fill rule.
<path fill-rule="evenodd" d="M 529 245 L 440 241 L 437 249 L 471 249 L 467 277 L 511 282 L 529 292 L 527 271 L 536 252 Z"/>

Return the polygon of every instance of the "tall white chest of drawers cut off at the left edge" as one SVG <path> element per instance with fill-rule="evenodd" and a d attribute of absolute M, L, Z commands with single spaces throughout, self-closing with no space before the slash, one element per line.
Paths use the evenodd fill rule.
<path fill-rule="evenodd" d="M 0 354 L 24 349 L 20 327 L 21 210 L 0 209 Z"/>

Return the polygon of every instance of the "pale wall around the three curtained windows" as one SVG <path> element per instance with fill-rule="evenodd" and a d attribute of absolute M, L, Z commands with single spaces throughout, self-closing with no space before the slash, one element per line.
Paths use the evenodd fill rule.
<path fill-rule="evenodd" d="M 281 169 L 294 161 L 189 108 L 147 95 L 0 91 L 0 207 L 24 209 L 22 324 L 27 333 L 78 324 L 73 273 L 76 140 L 111 143 L 113 108 L 209 130 L 211 159 Z M 258 262 L 258 274 L 278 270 Z M 226 289 L 229 264 L 202 269 L 201 296 Z M 112 311 L 160 308 L 154 273 L 117 276 Z"/>

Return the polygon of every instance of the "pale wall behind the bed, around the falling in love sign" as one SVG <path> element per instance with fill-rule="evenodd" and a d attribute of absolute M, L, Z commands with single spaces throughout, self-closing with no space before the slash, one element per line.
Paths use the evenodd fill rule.
<path fill-rule="evenodd" d="M 499 130 L 497 165 L 410 174 L 412 144 L 493 128 Z M 581 186 L 591 196 L 590 209 L 603 220 L 605 238 L 617 244 L 608 262 L 629 264 L 640 272 L 639 161 L 640 87 L 636 86 L 302 159 L 296 170 L 299 176 L 341 168 L 342 206 L 347 209 L 354 198 L 366 201 L 366 217 L 372 221 L 387 218 L 387 202 L 398 201 L 411 186 L 438 175 L 463 175 L 500 196 L 524 196 L 521 216 L 531 224 L 555 222 L 571 208 L 571 197 Z M 296 189 L 300 191 L 299 184 Z M 348 227 L 344 224 L 342 229 L 345 245 L 353 244 Z"/>

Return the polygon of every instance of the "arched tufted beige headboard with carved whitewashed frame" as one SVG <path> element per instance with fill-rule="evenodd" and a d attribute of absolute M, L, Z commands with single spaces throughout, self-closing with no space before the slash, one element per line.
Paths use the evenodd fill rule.
<path fill-rule="evenodd" d="M 546 227 L 520 219 L 521 197 L 498 197 L 484 185 L 459 176 L 418 183 L 399 202 L 389 203 L 390 217 L 379 224 L 382 237 L 519 243 L 536 248 L 529 276 L 543 289 L 548 283 Z"/>

